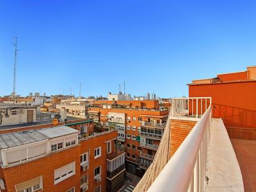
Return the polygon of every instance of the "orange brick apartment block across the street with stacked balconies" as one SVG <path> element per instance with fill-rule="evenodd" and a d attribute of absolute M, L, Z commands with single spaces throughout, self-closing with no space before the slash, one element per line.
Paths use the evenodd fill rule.
<path fill-rule="evenodd" d="M 93 101 L 88 114 L 96 114 L 104 127 L 116 129 L 117 145 L 126 149 L 126 170 L 143 175 L 152 163 L 162 138 L 169 107 L 158 100 Z M 95 117 L 94 116 L 94 117 Z"/>

